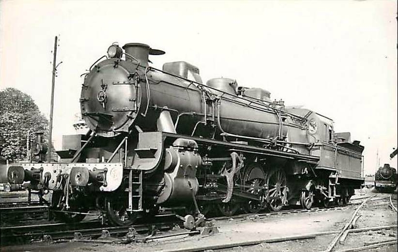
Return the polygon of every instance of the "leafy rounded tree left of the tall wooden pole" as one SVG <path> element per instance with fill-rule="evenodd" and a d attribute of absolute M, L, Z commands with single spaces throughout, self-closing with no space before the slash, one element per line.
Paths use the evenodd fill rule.
<path fill-rule="evenodd" d="M 32 97 L 15 88 L 0 90 L 0 160 L 21 161 L 26 158 L 26 140 L 44 131 L 48 145 L 48 120 Z"/>

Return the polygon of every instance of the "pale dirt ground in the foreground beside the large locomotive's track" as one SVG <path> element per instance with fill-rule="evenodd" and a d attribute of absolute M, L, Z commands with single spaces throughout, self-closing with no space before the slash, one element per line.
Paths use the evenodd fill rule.
<path fill-rule="evenodd" d="M 364 195 L 389 196 L 388 193 L 378 193 L 373 189 L 365 188 L 357 192 L 355 197 Z M 397 192 L 393 193 L 393 203 L 397 206 Z M 303 235 L 323 231 L 341 230 L 345 223 L 351 218 L 358 205 L 349 205 L 343 210 L 309 212 L 271 215 L 264 218 L 246 218 L 234 220 L 215 221 L 214 224 L 219 228 L 219 233 L 211 236 L 200 237 L 179 237 L 162 240 L 155 240 L 146 244 L 98 244 L 67 242 L 60 244 L 34 244 L 25 246 L 12 246 L 1 248 L 1 251 L 57 251 L 57 252 L 160 252 L 182 248 L 199 248 L 209 245 L 235 243 L 259 239 L 278 238 L 284 236 Z M 388 200 L 369 202 L 363 207 L 359 214 L 356 228 L 374 227 L 382 225 L 397 225 L 397 212 L 393 211 Z M 168 234 L 164 232 L 163 234 Z M 159 235 L 163 235 L 159 234 Z M 233 249 L 222 250 L 223 252 L 317 252 L 327 248 L 336 234 L 318 236 L 315 239 L 296 240 L 282 243 L 262 243 L 256 246 L 235 247 Z M 397 239 L 397 229 L 369 231 L 363 233 L 349 234 L 345 245 L 337 245 L 335 251 L 364 246 L 365 243 L 386 241 Z M 369 250 L 371 252 L 393 252 L 397 251 L 397 246 L 386 246 L 378 249 Z M 208 251 L 211 252 L 211 251 Z"/>

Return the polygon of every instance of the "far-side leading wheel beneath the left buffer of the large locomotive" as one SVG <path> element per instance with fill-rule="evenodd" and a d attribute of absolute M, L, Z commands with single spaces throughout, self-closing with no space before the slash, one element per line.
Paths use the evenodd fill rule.
<path fill-rule="evenodd" d="M 66 209 L 64 193 L 62 191 L 54 191 L 51 197 L 51 206 L 54 210 L 53 214 L 56 220 L 66 223 L 74 223 L 82 221 L 86 215 L 68 212 L 87 213 L 88 208 L 84 204 L 79 203 L 78 198 L 69 199 L 69 209 Z M 67 212 L 62 212 L 67 211 Z"/>

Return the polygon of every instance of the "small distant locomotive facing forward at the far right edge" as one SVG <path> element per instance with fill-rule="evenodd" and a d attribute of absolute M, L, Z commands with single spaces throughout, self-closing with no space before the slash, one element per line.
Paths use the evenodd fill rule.
<path fill-rule="evenodd" d="M 384 164 L 375 173 L 375 188 L 379 191 L 394 191 L 397 188 L 397 170 Z"/>

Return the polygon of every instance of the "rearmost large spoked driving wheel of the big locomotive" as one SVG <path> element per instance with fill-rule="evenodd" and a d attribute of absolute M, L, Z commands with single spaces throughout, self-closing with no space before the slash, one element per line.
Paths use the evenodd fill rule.
<path fill-rule="evenodd" d="M 267 175 L 267 203 L 272 211 L 279 211 L 285 205 L 288 197 L 286 174 L 282 169 L 273 169 Z"/>

